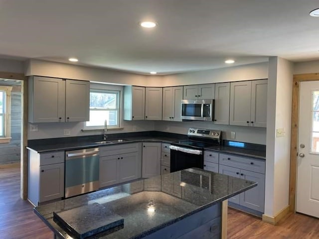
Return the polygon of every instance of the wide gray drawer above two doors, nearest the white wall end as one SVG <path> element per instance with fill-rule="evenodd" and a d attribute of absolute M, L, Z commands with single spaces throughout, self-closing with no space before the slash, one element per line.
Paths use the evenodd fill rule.
<path fill-rule="evenodd" d="M 265 173 L 265 161 L 260 161 L 252 158 L 244 158 L 220 153 L 219 164 L 257 173 Z"/>

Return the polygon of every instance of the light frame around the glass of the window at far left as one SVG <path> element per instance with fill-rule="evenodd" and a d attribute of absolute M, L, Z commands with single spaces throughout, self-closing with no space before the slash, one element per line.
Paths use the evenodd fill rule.
<path fill-rule="evenodd" d="M 0 86 L 0 91 L 5 92 L 4 106 L 4 136 L 0 136 L 0 143 L 9 143 L 11 140 L 11 91 L 12 86 Z"/>

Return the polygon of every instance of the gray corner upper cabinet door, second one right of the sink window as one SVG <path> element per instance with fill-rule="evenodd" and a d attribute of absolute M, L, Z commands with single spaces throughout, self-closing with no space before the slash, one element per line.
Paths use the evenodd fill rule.
<path fill-rule="evenodd" d="M 161 120 L 163 88 L 147 87 L 145 93 L 145 119 Z"/>

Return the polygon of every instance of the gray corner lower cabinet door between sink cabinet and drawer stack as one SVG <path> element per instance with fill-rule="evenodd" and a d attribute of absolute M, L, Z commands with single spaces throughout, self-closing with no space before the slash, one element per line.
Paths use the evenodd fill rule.
<path fill-rule="evenodd" d="M 142 177 L 160 175 L 160 143 L 143 143 Z"/>

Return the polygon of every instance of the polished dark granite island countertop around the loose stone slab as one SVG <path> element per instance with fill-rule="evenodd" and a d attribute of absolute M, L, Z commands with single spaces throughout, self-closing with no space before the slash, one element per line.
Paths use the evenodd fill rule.
<path fill-rule="evenodd" d="M 53 221 L 53 212 L 99 203 L 122 217 L 124 227 L 94 238 L 139 239 L 255 186 L 244 179 L 191 168 L 45 204 L 34 212 L 56 236 L 71 239 Z M 90 216 L 94 215 L 85 215 Z"/>

